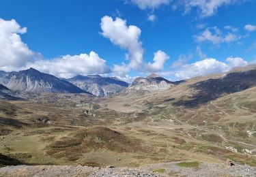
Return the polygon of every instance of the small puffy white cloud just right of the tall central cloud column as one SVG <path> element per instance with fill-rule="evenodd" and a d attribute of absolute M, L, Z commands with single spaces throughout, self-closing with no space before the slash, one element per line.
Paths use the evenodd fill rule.
<path fill-rule="evenodd" d="M 154 53 L 154 63 L 147 63 L 145 65 L 146 71 L 149 72 L 158 72 L 162 71 L 164 69 L 165 61 L 169 59 L 170 57 L 165 53 L 162 52 L 161 50 L 158 50 L 157 52 Z"/>

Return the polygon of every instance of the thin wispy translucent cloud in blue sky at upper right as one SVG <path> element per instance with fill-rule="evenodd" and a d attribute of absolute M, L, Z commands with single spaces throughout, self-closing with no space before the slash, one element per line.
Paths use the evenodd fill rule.
<path fill-rule="evenodd" d="M 217 27 L 207 28 L 200 35 L 196 35 L 195 39 L 197 42 L 212 42 L 212 44 L 221 44 L 234 42 L 240 39 L 235 33 L 228 32 L 223 34 L 223 32 Z"/>

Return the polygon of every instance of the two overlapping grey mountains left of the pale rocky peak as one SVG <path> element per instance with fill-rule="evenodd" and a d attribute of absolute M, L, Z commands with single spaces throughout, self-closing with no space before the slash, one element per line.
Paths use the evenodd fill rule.
<path fill-rule="evenodd" d="M 22 93 L 87 93 L 99 97 L 118 93 L 129 84 L 118 78 L 99 75 L 57 78 L 30 68 L 23 71 L 0 71 L 1 86 Z"/>

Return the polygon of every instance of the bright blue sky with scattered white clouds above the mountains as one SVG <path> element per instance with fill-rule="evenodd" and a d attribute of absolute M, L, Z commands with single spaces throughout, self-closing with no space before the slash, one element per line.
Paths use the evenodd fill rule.
<path fill-rule="evenodd" d="M 159 74 L 182 80 L 256 63 L 253 0 L 1 0 L 0 70 Z"/>

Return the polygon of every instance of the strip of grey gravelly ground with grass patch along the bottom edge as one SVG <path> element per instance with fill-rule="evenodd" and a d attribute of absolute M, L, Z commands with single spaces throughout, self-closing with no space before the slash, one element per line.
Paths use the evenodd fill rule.
<path fill-rule="evenodd" d="M 198 167 L 179 163 L 156 163 L 139 168 L 87 167 L 70 165 L 8 166 L 0 168 L 0 176 L 256 176 L 256 167 L 221 163 L 201 163 Z"/>

